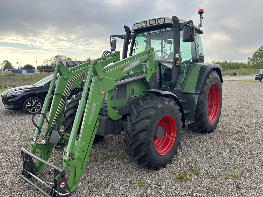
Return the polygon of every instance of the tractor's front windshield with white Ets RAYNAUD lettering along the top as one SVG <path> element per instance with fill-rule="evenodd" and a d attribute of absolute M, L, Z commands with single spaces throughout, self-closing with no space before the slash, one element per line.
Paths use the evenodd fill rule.
<path fill-rule="evenodd" d="M 133 54 L 154 48 L 154 61 L 173 60 L 173 28 L 163 27 L 135 34 Z"/>

